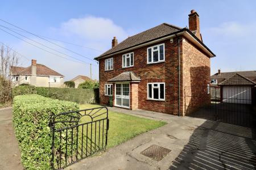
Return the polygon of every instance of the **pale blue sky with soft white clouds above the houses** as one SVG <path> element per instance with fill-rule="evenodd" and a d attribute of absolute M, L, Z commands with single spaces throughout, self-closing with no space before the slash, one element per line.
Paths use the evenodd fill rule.
<path fill-rule="evenodd" d="M 20 66 L 29 66 L 36 59 L 70 80 L 90 76 L 91 63 L 92 78 L 98 79 L 98 63 L 93 58 L 111 48 L 114 36 L 121 42 L 161 23 L 186 27 L 188 14 L 195 9 L 203 42 L 216 54 L 210 59 L 211 74 L 218 69 L 256 70 L 255 7 L 256 1 L 234 0 L 9 0 L 1 2 L 0 19 L 23 30 L 0 20 L 0 43 L 21 54 Z"/>

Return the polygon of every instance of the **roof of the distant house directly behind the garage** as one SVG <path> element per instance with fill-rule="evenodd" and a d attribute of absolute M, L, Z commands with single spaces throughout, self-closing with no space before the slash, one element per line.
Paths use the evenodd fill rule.
<path fill-rule="evenodd" d="M 213 74 L 212 76 L 210 76 L 210 78 L 225 80 L 235 74 L 240 74 L 240 75 L 252 80 L 253 82 L 256 82 L 256 71 L 234 71 L 234 72 L 225 72 L 225 73 L 221 73 L 221 74 L 216 73 L 216 74 Z"/>

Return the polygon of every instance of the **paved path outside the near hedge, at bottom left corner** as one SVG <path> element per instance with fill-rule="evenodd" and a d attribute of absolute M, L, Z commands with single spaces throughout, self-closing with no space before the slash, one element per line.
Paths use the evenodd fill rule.
<path fill-rule="evenodd" d="M 20 163 L 20 152 L 14 134 L 11 108 L 0 109 L 0 143 L 0 169 L 24 169 Z"/>

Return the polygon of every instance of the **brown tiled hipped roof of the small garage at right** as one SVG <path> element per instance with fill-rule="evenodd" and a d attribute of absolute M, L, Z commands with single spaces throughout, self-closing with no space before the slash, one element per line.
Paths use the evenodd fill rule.
<path fill-rule="evenodd" d="M 234 74 L 233 76 L 230 76 L 230 78 L 224 80 L 221 83 L 218 83 L 218 85 L 254 85 L 255 83 L 246 78 L 245 76 L 242 76 L 240 74 Z"/>

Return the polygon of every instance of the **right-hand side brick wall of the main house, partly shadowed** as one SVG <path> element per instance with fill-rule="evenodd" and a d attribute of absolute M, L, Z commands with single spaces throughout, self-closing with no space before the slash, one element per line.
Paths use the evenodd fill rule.
<path fill-rule="evenodd" d="M 189 41 L 183 39 L 183 114 L 210 103 L 207 84 L 210 84 L 210 58 Z"/>

